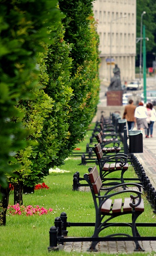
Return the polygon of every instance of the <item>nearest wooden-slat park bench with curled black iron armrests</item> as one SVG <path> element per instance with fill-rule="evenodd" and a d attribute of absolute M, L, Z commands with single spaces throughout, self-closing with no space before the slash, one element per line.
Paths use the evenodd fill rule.
<path fill-rule="evenodd" d="M 103 188 L 102 189 L 102 180 L 99 176 L 99 172 L 97 167 L 94 166 L 92 169 L 90 168 L 89 174 L 86 173 L 84 175 L 84 179 L 89 183 L 92 198 L 94 201 L 94 206 L 96 210 L 96 223 L 94 234 L 92 237 L 98 237 L 99 233 L 106 229 L 107 227 L 114 226 L 115 223 L 110 223 L 111 219 L 114 219 L 117 216 L 131 214 L 132 215 L 132 223 L 127 223 L 127 226 L 131 227 L 133 237 L 140 236 L 137 227 L 136 227 L 136 220 L 137 217 L 143 213 L 144 211 L 144 204 L 143 199 L 141 198 L 141 185 L 135 184 L 138 190 L 121 190 L 118 192 L 114 192 L 115 189 L 122 186 L 123 184 L 116 185 L 110 188 Z M 126 186 L 134 186 L 134 183 L 126 183 Z M 101 191 L 100 191 L 101 190 Z M 102 195 L 102 191 L 106 191 L 104 195 Z M 112 192 L 112 193 L 111 193 Z M 128 196 L 129 193 L 133 193 L 131 196 L 126 196 L 124 199 L 117 198 L 117 195 L 123 194 Z M 106 219 L 104 219 L 104 217 Z M 124 220 L 124 219 L 123 219 Z M 121 223 L 121 226 L 124 226 Z M 129 236 L 125 233 L 114 233 L 111 234 L 112 236 L 123 235 Z M 135 242 L 135 251 L 144 251 L 144 249 L 140 246 L 137 239 L 134 239 Z M 92 241 L 91 246 L 89 247 L 89 251 L 97 251 L 96 244 L 98 241 Z"/>

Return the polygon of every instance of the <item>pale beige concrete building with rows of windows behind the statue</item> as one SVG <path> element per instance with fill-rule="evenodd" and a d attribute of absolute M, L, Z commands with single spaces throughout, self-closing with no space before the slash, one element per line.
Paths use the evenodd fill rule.
<path fill-rule="evenodd" d="M 136 0 L 95 0 L 100 38 L 100 79 L 109 83 L 115 64 L 124 83 L 135 79 Z"/>

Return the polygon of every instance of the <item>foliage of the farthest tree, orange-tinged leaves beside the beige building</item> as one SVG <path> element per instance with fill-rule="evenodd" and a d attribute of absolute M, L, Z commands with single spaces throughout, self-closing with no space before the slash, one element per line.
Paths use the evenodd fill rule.
<path fill-rule="evenodd" d="M 59 0 L 66 15 L 64 40 L 72 43 L 72 89 L 68 147 L 83 140 L 85 130 L 96 113 L 99 100 L 99 38 L 92 19 L 92 0 Z"/>

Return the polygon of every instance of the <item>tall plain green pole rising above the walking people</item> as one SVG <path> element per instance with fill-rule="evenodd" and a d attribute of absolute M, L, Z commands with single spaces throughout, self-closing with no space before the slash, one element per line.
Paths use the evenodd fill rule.
<path fill-rule="evenodd" d="M 143 25 L 143 96 L 146 103 L 146 37 L 145 25 Z"/>

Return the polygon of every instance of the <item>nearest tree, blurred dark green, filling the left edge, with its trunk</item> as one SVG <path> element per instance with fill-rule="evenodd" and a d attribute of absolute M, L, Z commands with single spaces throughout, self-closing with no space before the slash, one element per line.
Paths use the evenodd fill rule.
<path fill-rule="evenodd" d="M 0 225 L 6 223 L 9 189 L 6 174 L 15 169 L 13 156 L 26 146 L 20 101 L 38 86 L 38 52 L 49 41 L 47 27 L 59 18 L 57 1 L 0 1 Z M 6 188 L 5 188 L 6 186 Z"/>

